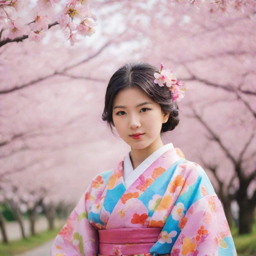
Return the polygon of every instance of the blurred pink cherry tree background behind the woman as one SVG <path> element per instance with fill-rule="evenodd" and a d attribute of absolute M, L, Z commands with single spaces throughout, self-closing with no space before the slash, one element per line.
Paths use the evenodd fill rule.
<path fill-rule="evenodd" d="M 256 6 L 221 7 L 94 1 L 96 31 L 73 46 L 53 14 L 40 42 L 2 27 L 0 255 L 49 255 L 91 179 L 130 151 L 101 119 L 110 77 L 130 61 L 163 62 L 188 88 L 162 140 L 205 169 L 238 255 L 256 255 Z"/>

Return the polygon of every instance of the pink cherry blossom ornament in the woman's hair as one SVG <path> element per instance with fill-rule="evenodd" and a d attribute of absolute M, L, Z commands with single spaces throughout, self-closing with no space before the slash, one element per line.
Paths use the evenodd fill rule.
<path fill-rule="evenodd" d="M 159 70 L 160 73 L 154 73 L 154 83 L 158 83 L 159 86 L 164 86 L 164 84 L 166 84 L 172 92 L 173 102 L 178 102 L 184 97 L 184 93 L 187 88 L 182 87 L 183 82 L 177 80 L 168 68 L 163 70 L 163 67 L 163 62 L 161 62 L 161 69 Z"/>

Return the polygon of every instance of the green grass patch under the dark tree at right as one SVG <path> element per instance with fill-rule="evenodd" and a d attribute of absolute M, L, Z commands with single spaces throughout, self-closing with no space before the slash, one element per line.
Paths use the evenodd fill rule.
<path fill-rule="evenodd" d="M 238 228 L 232 228 L 231 234 L 238 256 L 256 256 L 256 221 L 253 223 L 251 234 L 239 235 Z"/>

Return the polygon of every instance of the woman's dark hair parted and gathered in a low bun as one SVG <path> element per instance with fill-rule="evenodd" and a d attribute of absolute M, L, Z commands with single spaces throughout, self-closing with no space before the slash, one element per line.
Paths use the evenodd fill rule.
<path fill-rule="evenodd" d="M 159 70 L 146 62 L 129 62 L 119 68 L 110 78 L 105 94 L 105 107 L 102 113 L 102 120 L 107 121 L 113 133 L 112 109 L 115 96 L 122 89 L 139 88 L 146 93 L 153 101 L 161 106 L 164 113 L 170 113 L 168 121 L 162 124 L 160 133 L 172 131 L 179 123 L 179 107 L 171 98 L 171 91 L 165 86 L 154 83 L 154 73 Z"/>

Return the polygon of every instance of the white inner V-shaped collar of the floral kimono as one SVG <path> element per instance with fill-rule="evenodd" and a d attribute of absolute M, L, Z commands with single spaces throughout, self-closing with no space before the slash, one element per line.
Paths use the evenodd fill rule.
<path fill-rule="evenodd" d="M 130 152 L 125 156 L 123 162 L 123 177 L 124 177 L 124 185 L 127 189 L 130 187 L 133 182 L 162 154 L 164 154 L 167 150 L 174 148 L 172 143 L 168 143 L 163 145 L 161 148 L 158 148 L 155 152 L 153 152 L 150 156 L 148 156 L 137 168 L 133 170 L 132 162 L 130 159 Z"/>

